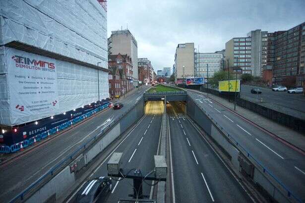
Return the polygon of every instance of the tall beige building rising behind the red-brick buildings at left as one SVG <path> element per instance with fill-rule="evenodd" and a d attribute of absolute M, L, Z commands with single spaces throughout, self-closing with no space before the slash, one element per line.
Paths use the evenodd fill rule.
<path fill-rule="evenodd" d="M 108 39 L 108 50 L 110 54 L 127 54 L 131 57 L 133 67 L 138 67 L 138 45 L 137 41 L 126 30 L 112 31 L 111 36 Z M 138 85 L 138 69 L 133 68 L 133 85 Z"/>

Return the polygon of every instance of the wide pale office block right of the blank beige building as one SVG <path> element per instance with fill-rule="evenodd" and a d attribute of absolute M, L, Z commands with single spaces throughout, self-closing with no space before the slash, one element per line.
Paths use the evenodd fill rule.
<path fill-rule="evenodd" d="M 197 77 L 213 77 L 222 69 L 223 53 L 194 53 L 194 71 Z"/>

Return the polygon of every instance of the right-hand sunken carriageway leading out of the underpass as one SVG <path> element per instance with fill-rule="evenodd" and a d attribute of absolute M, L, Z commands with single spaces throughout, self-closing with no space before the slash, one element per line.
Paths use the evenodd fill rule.
<path fill-rule="evenodd" d="M 252 202 L 177 103 L 167 112 L 176 203 Z"/>

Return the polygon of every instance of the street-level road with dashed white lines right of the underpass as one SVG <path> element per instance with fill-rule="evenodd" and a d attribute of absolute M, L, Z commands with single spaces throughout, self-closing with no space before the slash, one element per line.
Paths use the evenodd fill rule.
<path fill-rule="evenodd" d="M 255 128 L 208 97 L 187 90 L 218 124 L 292 193 L 305 202 L 305 156 Z"/>

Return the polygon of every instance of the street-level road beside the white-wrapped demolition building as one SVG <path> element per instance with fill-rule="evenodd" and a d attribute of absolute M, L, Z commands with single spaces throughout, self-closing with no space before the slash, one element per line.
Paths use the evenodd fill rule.
<path fill-rule="evenodd" d="M 148 87 L 139 88 L 120 101 L 120 110 L 107 109 L 67 132 L 57 135 L 26 154 L 20 154 L 12 161 L 0 165 L 0 202 L 8 202 L 30 184 L 35 182 L 65 156 L 77 149 L 91 137 L 128 110 Z"/>

